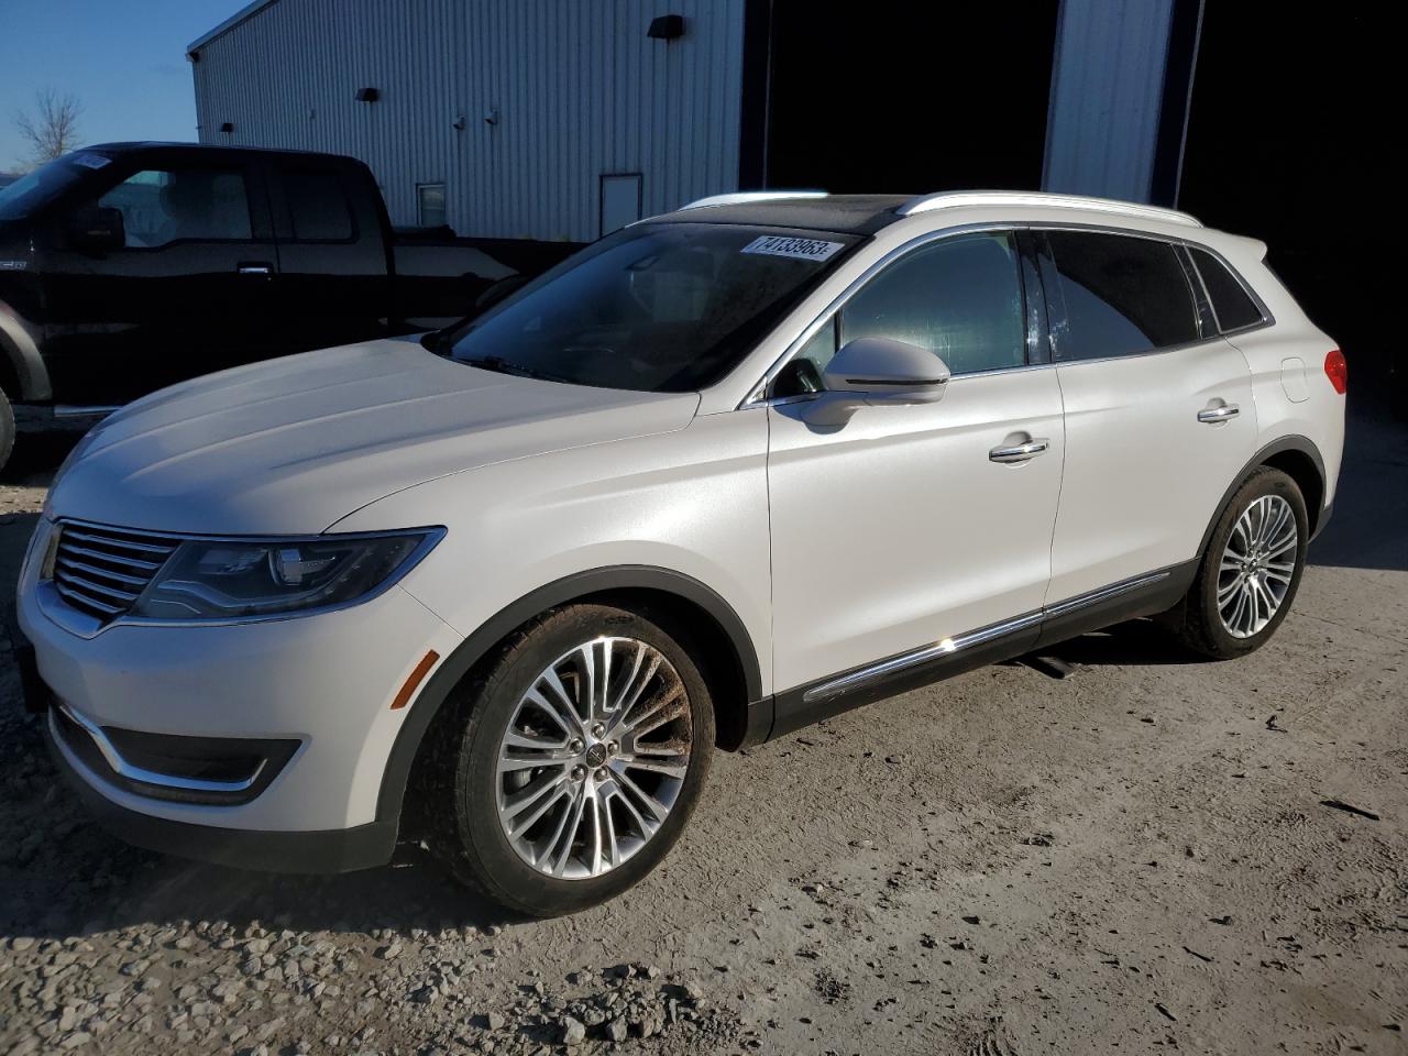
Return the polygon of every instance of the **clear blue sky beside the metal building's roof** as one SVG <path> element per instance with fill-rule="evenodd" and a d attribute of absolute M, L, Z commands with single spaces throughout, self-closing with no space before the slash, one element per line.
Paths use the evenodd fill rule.
<path fill-rule="evenodd" d="M 0 170 L 27 155 L 14 127 L 35 89 L 83 104 L 79 137 L 194 139 L 186 45 L 246 0 L 0 0 Z"/>

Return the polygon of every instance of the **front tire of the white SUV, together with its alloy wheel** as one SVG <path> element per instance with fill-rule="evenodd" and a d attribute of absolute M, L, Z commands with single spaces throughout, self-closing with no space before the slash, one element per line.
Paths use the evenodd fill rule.
<path fill-rule="evenodd" d="M 645 877 L 684 829 L 714 748 L 714 705 L 686 641 L 648 611 L 600 604 L 552 610 L 515 632 L 427 732 L 417 798 L 431 853 L 462 883 L 531 917 L 596 905 Z M 607 670 L 601 701 L 584 689 L 587 658 L 591 670 Z M 549 672 L 577 701 L 577 719 L 591 711 L 596 722 L 577 725 Z M 558 703 L 558 717 L 541 703 Z"/>

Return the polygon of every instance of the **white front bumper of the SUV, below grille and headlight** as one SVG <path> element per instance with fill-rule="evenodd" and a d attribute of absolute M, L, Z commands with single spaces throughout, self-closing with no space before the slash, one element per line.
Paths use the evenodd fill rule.
<path fill-rule="evenodd" d="M 138 769 L 131 780 L 111 756 L 84 755 L 82 724 L 59 727 L 58 742 L 51 731 L 63 770 L 120 836 L 251 867 L 300 869 L 296 863 L 307 859 L 329 863 L 320 869 L 351 869 L 386 860 L 396 818 L 379 814 L 382 777 L 411 710 L 391 710 L 391 703 L 427 650 L 449 656 L 462 641 L 420 601 L 393 587 L 321 615 L 114 624 L 82 638 L 41 611 L 35 576 L 34 567 L 24 570 L 18 612 L 39 691 L 106 731 L 122 762 Z M 253 796 L 215 801 L 144 787 L 141 770 L 182 769 L 163 762 L 173 742 L 268 750 L 269 780 L 256 783 Z M 187 773 L 238 783 L 238 770 L 231 762 L 230 773 Z M 304 841 L 307 855 L 298 850 Z"/>

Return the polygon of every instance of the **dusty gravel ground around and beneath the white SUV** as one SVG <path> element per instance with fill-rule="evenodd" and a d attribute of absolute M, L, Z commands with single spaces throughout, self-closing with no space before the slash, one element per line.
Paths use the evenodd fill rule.
<path fill-rule="evenodd" d="M 1405 1053 L 1408 429 L 1350 435 L 1262 652 L 1126 624 L 1062 646 L 1070 679 L 721 755 L 665 866 L 567 919 L 414 848 L 344 877 L 125 848 L 0 660 L 0 1052 Z M 0 486 L 7 584 L 65 446 Z"/>

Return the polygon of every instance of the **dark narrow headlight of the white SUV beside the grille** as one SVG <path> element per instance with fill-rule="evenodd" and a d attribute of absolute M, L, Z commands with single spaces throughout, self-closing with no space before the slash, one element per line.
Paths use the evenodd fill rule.
<path fill-rule="evenodd" d="M 132 605 L 149 620 L 277 617 L 365 601 L 406 574 L 444 528 L 306 539 L 187 539 Z"/>

